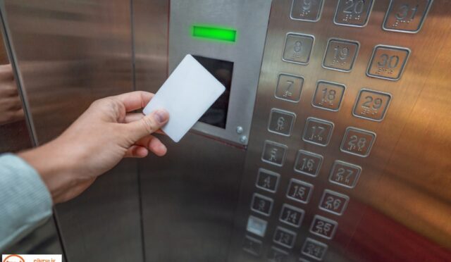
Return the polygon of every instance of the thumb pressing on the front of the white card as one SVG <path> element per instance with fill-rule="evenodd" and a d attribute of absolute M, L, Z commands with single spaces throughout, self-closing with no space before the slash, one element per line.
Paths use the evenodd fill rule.
<path fill-rule="evenodd" d="M 127 124 L 130 128 L 130 138 L 136 142 L 142 137 L 159 130 L 163 125 L 168 123 L 168 120 L 168 111 L 164 109 L 153 111 L 152 113 L 149 113 L 149 115 L 144 116 L 144 118 Z"/>

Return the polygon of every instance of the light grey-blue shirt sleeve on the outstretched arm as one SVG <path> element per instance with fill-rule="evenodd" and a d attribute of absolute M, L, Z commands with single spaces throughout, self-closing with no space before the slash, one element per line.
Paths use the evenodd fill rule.
<path fill-rule="evenodd" d="M 0 251 L 51 216 L 49 190 L 37 171 L 13 154 L 0 155 L 0 206 Z"/>

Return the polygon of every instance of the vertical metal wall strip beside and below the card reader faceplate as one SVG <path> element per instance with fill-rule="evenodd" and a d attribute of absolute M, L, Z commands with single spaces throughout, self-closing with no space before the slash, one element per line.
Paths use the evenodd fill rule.
<path fill-rule="evenodd" d="M 167 77 L 169 1 L 134 1 L 136 87 Z M 188 134 L 139 161 L 146 261 L 225 261 L 245 151 Z"/>

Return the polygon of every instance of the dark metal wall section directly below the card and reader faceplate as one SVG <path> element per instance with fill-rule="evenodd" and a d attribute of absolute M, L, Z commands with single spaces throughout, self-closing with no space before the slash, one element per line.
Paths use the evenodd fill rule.
<path fill-rule="evenodd" d="M 188 133 L 140 161 L 146 261 L 226 261 L 245 151 Z"/>

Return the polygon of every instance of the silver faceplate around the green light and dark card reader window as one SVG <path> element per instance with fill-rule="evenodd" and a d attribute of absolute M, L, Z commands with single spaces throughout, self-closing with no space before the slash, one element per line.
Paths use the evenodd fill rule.
<path fill-rule="evenodd" d="M 169 71 L 187 54 L 233 62 L 226 128 L 198 122 L 192 130 L 247 145 L 271 0 L 171 1 Z M 195 39 L 192 25 L 237 30 L 234 43 Z M 241 127 L 241 132 L 236 132 Z"/>

